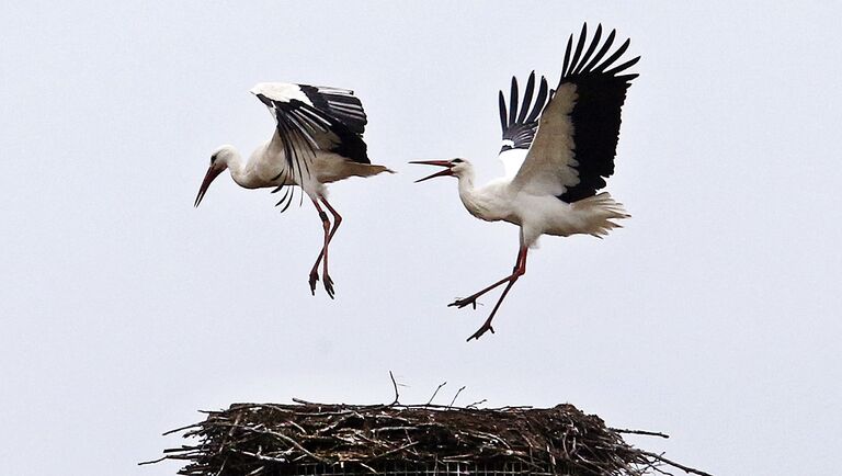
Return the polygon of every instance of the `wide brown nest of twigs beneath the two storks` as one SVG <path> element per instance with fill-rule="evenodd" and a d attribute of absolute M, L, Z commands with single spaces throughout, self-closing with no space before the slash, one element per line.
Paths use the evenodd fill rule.
<path fill-rule="evenodd" d="M 670 466 L 706 475 L 638 450 L 621 433 L 667 435 L 607 428 L 572 405 L 479 409 L 295 401 L 207 411 L 204 421 L 168 432 L 184 432 L 197 444 L 166 450 L 157 461 L 186 461 L 179 474 L 187 476 L 645 475 L 668 474 Z"/>

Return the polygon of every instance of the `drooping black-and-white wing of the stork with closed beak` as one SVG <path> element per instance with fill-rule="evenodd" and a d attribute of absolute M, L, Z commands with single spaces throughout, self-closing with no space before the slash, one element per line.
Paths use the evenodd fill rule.
<path fill-rule="evenodd" d="M 371 163 L 363 132 L 367 118 L 353 91 L 339 88 L 262 82 L 251 93 L 269 107 L 277 125 L 286 166 L 295 177 L 309 173 L 316 150 Z M 299 182 L 300 183 L 300 182 Z"/>

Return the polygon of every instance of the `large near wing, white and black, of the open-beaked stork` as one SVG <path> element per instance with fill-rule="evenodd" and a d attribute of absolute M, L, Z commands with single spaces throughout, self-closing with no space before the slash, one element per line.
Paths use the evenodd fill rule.
<path fill-rule="evenodd" d="M 535 139 L 512 186 L 535 194 L 551 194 L 572 203 L 594 195 L 614 173 L 621 110 L 626 90 L 637 75 L 618 75 L 640 57 L 616 65 L 628 49 L 626 39 L 608 55 L 615 31 L 600 45 L 602 25 L 584 50 L 588 25 L 572 50 L 567 42 L 556 91 L 538 121 Z M 599 50 L 598 50 L 599 48 Z M 572 55 L 571 55 L 572 53 Z"/>

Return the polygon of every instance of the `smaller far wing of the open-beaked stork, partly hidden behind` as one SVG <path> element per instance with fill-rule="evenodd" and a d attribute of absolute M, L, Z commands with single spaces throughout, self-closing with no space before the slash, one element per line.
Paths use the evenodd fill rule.
<path fill-rule="evenodd" d="M 500 91 L 500 126 L 503 129 L 503 145 L 498 158 L 503 162 L 505 177 L 511 179 L 517 173 L 526 158 L 526 151 L 535 138 L 535 132 L 538 129 L 538 115 L 547 103 L 549 88 L 547 79 L 541 78 L 538 95 L 535 97 L 535 103 L 532 102 L 535 92 L 535 71 L 532 71 L 526 81 L 526 90 L 523 93 L 523 101 L 519 103 L 517 79 L 512 77 L 512 88 L 509 95 L 509 111 L 507 112 L 505 98 L 503 91 Z M 520 113 L 519 113 L 520 110 Z"/>

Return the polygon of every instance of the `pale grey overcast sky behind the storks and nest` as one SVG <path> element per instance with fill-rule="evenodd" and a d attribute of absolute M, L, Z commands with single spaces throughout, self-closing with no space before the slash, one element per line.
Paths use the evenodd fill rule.
<path fill-rule="evenodd" d="M 0 16 L 0 461 L 8 475 L 173 475 L 198 409 L 571 403 L 716 475 L 838 474 L 838 2 L 10 2 Z M 782 7 L 775 7 L 780 4 Z M 785 7 L 784 7 L 785 5 Z M 798 5 L 798 7 L 795 7 Z M 419 158 L 502 173 L 497 91 L 555 81 L 583 21 L 640 77 L 604 240 L 545 237 L 496 319 L 446 307 L 510 272 Z M 309 203 L 226 173 L 273 122 L 260 81 L 354 89 L 375 162 L 330 188 L 337 298 Z"/>

